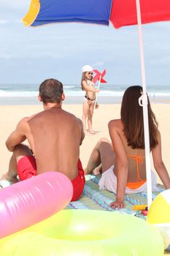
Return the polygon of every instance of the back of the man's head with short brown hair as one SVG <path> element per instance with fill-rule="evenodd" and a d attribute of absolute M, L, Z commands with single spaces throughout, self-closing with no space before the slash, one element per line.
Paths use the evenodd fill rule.
<path fill-rule="evenodd" d="M 39 86 L 39 95 L 42 102 L 60 103 L 63 94 L 63 84 L 53 78 L 47 79 Z"/>

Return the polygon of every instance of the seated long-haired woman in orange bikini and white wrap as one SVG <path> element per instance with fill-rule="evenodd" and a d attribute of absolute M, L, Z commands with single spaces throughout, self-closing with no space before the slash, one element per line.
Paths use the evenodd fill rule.
<path fill-rule="evenodd" d="M 112 208 L 124 208 L 125 194 L 144 192 L 147 189 L 147 177 L 144 151 L 143 111 L 139 105 L 141 86 L 131 86 L 123 95 L 120 119 L 109 121 L 109 135 L 98 141 L 85 168 L 85 173 L 102 173 L 99 181 L 101 190 L 116 193 Z M 161 134 L 158 122 L 152 112 L 148 99 L 148 118 L 150 133 L 150 151 L 153 164 L 165 189 L 170 189 L 169 173 L 161 155 Z M 156 188 L 156 176 L 152 174 L 152 190 Z"/>

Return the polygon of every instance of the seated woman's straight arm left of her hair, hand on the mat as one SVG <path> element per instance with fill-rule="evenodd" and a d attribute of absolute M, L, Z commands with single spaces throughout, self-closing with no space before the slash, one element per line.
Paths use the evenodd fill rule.
<path fill-rule="evenodd" d="M 128 158 L 120 138 L 120 120 L 112 120 L 109 122 L 109 135 L 116 156 L 115 175 L 117 176 L 117 195 L 115 202 L 110 206 L 112 208 L 124 208 L 125 187 L 128 180 Z"/>

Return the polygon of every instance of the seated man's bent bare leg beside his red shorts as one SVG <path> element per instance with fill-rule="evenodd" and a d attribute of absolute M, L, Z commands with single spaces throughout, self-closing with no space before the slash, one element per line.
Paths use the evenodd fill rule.
<path fill-rule="evenodd" d="M 9 169 L 8 172 L 1 176 L 1 180 L 7 180 L 9 182 L 15 183 L 18 176 L 18 161 L 28 155 L 33 155 L 30 148 L 26 145 L 19 144 L 15 147 L 15 151 L 12 154 L 11 159 L 9 160 Z"/>

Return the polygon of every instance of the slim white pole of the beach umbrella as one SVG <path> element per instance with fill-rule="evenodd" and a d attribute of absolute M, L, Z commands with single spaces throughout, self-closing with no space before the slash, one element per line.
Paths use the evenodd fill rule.
<path fill-rule="evenodd" d="M 149 124 L 148 124 L 148 110 L 147 110 L 147 91 L 146 91 L 146 79 L 144 69 L 144 48 L 142 41 L 142 21 L 140 11 L 140 0 L 136 0 L 137 10 L 137 21 L 138 21 L 138 32 L 139 32 L 139 47 L 141 57 L 141 68 L 142 68 L 142 88 L 143 95 L 139 98 L 139 105 L 143 108 L 144 117 L 144 145 L 145 145 L 145 159 L 146 159 L 146 172 L 147 172 L 147 207 L 150 208 L 152 203 L 152 181 L 151 181 L 151 168 L 150 168 L 150 135 L 149 135 Z M 140 102 L 140 100 L 142 102 Z"/>

